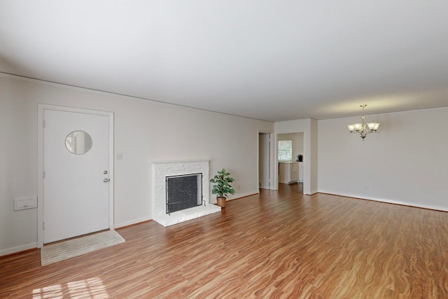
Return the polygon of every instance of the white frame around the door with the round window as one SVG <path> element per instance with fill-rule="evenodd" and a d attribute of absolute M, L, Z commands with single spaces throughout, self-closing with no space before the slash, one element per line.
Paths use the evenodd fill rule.
<path fill-rule="evenodd" d="M 37 116 L 37 248 L 43 246 L 43 119 L 45 110 L 55 110 L 55 111 L 66 111 L 66 112 L 76 112 L 93 114 L 98 116 L 107 116 L 109 118 L 109 228 L 113 230 L 114 219 L 113 219 L 113 185 L 114 185 L 114 172 L 113 172 L 113 112 L 110 111 L 99 111 L 91 109 L 80 109 L 74 107 L 57 106 L 52 104 L 37 104 L 38 116 Z"/>

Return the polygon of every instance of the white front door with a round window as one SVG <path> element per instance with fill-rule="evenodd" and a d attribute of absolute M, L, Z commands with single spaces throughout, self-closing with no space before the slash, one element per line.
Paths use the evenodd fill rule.
<path fill-rule="evenodd" d="M 43 115 L 43 243 L 109 228 L 108 116 Z"/>

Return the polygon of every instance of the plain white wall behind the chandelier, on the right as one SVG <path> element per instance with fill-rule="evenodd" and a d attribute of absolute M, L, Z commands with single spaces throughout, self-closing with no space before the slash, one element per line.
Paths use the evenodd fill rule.
<path fill-rule="evenodd" d="M 346 125 L 318 121 L 318 190 L 448 211 L 448 108 L 367 116 L 363 141 Z"/>

